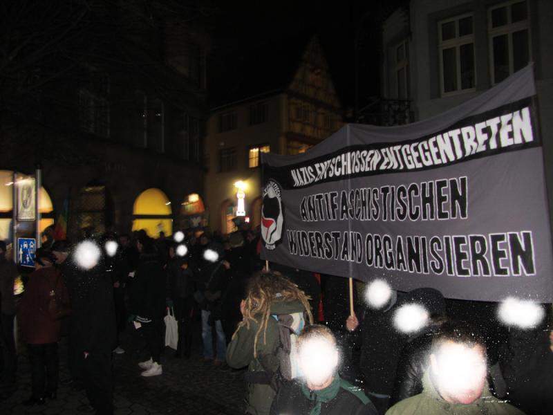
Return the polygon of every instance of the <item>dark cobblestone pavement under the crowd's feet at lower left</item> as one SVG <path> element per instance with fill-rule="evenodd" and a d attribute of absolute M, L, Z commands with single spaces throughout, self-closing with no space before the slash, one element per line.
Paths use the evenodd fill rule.
<path fill-rule="evenodd" d="M 115 415 L 141 414 L 224 414 L 244 412 L 245 384 L 243 372 L 222 371 L 206 365 L 200 356 L 200 333 L 196 330 L 196 353 L 189 359 L 173 358 L 174 351 L 165 349 L 163 374 L 152 378 L 140 376 L 137 363 L 144 360 L 140 353 L 142 340 L 131 327 L 121 339 L 125 353 L 113 355 L 115 384 Z M 60 344 L 60 379 L 68 378 L 64 342 Z M 93 414 L 84 391 L 60 383 L 57 399 L 45 405 L 24 407 L 30 396 L 30 371 L 25 347 L 20 348 L 17 391 L 0 402 L 0 414 L 70 415 Z"/>

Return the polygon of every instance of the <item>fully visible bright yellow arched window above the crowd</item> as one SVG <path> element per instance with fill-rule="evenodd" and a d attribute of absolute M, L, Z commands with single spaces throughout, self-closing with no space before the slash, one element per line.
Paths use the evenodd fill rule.
<path fill-rule="evenodd" d="M 173 233 L 171 202 L 159 189 L 144 190 L 134 201 L 133 230 L 144 229 L 150 237 Z"/>

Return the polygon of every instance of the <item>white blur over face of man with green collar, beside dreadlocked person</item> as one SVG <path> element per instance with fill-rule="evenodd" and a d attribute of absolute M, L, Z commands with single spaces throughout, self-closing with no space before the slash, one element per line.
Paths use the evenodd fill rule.
<path fill-rule="evenodd" d="M 335 344 L 325 338 L 312 338 L 301 344 L 299 366 L 311 385 L 322 385 L 338 366 Z"/>

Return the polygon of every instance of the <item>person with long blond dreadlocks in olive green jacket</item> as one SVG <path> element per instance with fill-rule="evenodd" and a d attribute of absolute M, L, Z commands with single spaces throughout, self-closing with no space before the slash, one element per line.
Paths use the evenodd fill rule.
<path fill-rule="evenodd" d="M 294 358 L 297 335 L 313 323 L 309 299 L 280 273 L 258 273 L 250 279 L 241 303 L 243 320 L 227 347 L 227 364 L 247 366 L 246 413 L 268 415 L 278 378 L 299 376 Z"/>

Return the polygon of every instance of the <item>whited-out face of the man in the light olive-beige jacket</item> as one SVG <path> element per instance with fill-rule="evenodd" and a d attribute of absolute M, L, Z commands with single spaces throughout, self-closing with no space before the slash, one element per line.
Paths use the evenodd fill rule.
<path fill-rule="evenodd" d="M 468 405 L 480 398 L 486 382 L 484 347 L 444 342 L 430 356 L 432 382 L 444 400 Z"/>

